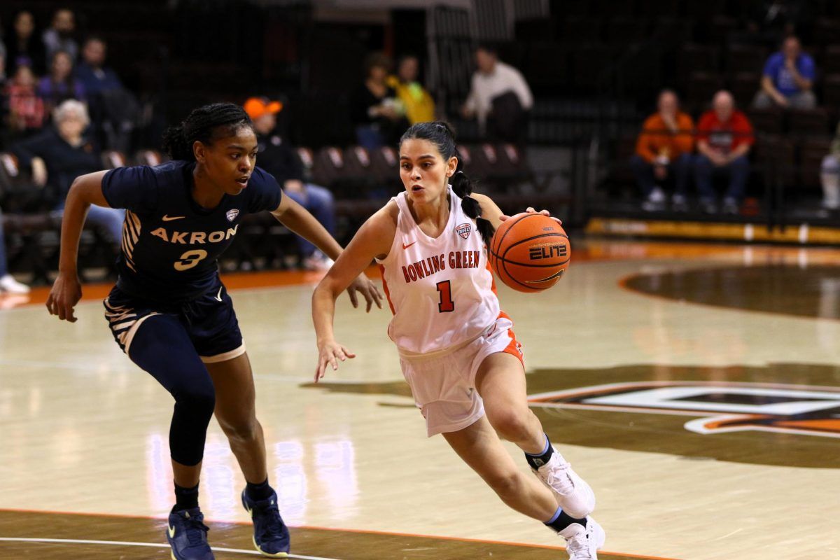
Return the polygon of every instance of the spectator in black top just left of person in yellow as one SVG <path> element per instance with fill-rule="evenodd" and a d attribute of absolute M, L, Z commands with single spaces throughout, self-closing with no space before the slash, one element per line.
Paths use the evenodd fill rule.
<path fill-rule="evenodd" d="M 391 59 L 375 52 L 365 58 L 365 82 L 353 94 L 350 114 L 356 139 L 367 149 L 396 144 L 408 127 L 406 109 L 388 86 Z"/>

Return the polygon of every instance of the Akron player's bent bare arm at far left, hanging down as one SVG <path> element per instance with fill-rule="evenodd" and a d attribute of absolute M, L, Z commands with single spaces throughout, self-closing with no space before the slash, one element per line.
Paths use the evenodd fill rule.
<path fill-rule="evenodd" d="M 107 171 L 97 171 L 81 175 L 73 181 L 67 193 L 64 217 L 61 218 L 61 254 L 58 264 L 58 277 L 55 278 L 50 296 L 47 298 L 47 310 L 59 319 L 76 322 L 73 308 L 81 299 L 81 282 L 76 269 L 79 254 L 81 228 L 85 225 L 87 210 L 92 204 L 110 207 L 102 195 L 102 177 Z"/>

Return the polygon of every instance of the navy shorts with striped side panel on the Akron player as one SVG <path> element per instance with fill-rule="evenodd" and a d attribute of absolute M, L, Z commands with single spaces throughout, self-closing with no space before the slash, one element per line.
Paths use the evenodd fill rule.
<path fill-rule="evenodd" d="M 245 353 L 234 302 L 221 282 L 195 300 L 173 305 L 130 296 L 114 286 L 102 304 L 113 338 L 126 354 L 130 352 L 134 334 L 155 315 L 176 317 L 205 364 L 224 362 Z"/>

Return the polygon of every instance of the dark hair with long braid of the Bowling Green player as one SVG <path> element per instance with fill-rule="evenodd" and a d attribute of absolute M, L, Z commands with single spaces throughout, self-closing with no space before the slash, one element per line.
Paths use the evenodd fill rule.
<path fill-rule="evenodd" d="M 400 144 L 406 140 L 428 140 L 438 148 L 438 152 L 444 158 L 444 161 L 449 161 L 449 158 L 455 156 L 458 158 L 458 167 L 455 168 L 455 174 L 450 180 L 452 184 L 452 191 L 461 199 L 461 209 L 464 213 L 475 220 L 475 226 L 478 228 L 481 238 L 484 242 L 490 245 L 490 240 L 493 237 L 495 228 L 489 220 L 481 217 L 481 205 L 475 198 L 470 196 L 473 191 L 473 182 L 461 168 L 464 166 L 458 154 L 458 149 L 455 147 L 455 133 L 449 126 L 449 123 L 444 121 L 435 121 L 433 123 L 417 123 L 412 124 L 408 130 L 402 134 Z"/>

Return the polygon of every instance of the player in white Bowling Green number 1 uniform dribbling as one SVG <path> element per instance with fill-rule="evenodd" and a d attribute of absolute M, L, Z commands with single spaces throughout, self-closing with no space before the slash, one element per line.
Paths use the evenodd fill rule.
<path fill-rule="evenodd" d="M 365 222 L 312 296 L 315 380 L 354 357 L 333 337 L 335 300 L 376 259 L 394 313 L 388 334 L 429 437 L 442 433 L 502 501 L 564 536 L 571 560 L 594 560 L 605 538 L 589 516 L 595 495 L 528 408 L 522 349 L 487 264 L 486 244 L 507 217 L 470 196 L 458 168 L 446 123 L 402 135 L 406 191 Z M 499 436 L 522 448 L 539 480 L 521 473 Z"/>

